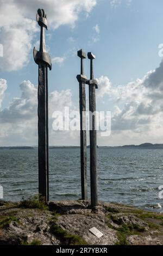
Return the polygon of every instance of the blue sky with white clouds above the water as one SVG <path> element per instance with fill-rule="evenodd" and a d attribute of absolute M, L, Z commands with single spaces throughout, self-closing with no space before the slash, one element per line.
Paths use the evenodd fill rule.
<path fill-rule="evenodd" d="M 98 145 L 163 143 L 161 0 L 0 0 L 0 146 L 37 145 L 38 8 L 47 14 L 52 59 L 49 144 L 79 145 L 79 131 L 52 124 L 54 111 L 79 109 L 81 48 L 96 55 L 97 110 L 111 111 L 111 134 L 98 132 Z M 84 64 L 89 78 L 89 60 Z"/>

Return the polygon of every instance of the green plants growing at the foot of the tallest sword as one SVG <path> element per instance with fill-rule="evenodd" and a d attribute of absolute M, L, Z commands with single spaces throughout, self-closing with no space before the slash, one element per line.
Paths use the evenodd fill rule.
<path fill-rule="evenodd" d="M 40 195 L 31 196 L 28 199 L 22 198 L 21 208 L 48 210 L 45 199 Z"/>

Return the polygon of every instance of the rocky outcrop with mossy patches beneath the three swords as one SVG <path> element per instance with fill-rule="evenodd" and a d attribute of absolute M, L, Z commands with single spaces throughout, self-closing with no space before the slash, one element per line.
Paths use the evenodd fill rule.
<path fill-rule="evenodd" d="M 104 202 L 91 209 L 89 200 L 24 207 L 0 201 L 0 245 L 163 245 L 161 214 Z"/>

